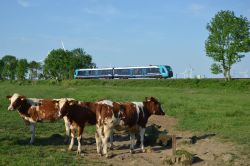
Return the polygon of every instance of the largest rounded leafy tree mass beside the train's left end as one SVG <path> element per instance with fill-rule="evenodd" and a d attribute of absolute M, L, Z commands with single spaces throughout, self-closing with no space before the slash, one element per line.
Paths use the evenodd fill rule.
<path fill-rule="evenodd" d="M 83 49 L 72 51 L 57 49 L 52 50 L 44 61 L 44 74 L 46 78 L 72 79 L 74 70 L 94 66 L 92 57 Z"/>

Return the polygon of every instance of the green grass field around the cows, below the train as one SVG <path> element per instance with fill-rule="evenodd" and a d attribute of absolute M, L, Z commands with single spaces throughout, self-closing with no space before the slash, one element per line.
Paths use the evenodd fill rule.
<path fill-rule="evenodd" d="M 234 80 L 80 80 L 0 81 L 0 165 L 100 164 L 67 152 L 63 121 L 37 125 L 35 145 L 17 112 L 8 112 L 6 95 L 37 98 L 73 97 L 83 101 L 142 101 L 155 96 L 165 112 L 178 119 L 179 130 L 215 133 L 250 149 L 250 81 Z M 94 127 L 88 127 L 93 133 Z"/>

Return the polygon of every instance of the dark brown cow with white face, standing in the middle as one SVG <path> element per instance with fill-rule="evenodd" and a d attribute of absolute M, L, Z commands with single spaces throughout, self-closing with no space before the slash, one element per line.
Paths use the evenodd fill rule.
<path fill-rule="evenodd" d="M 96 124 L 96 107 L 96 104 L 91 102 L 68 101 L 67 99 L 59 101 L 59 116 L 66 116 L 70 123 L 71 141 L 69 150 L 74 145 L 74 130 L 77 129 L 77 154 L 81 153 L 81 139 L 85 125 Z"/>

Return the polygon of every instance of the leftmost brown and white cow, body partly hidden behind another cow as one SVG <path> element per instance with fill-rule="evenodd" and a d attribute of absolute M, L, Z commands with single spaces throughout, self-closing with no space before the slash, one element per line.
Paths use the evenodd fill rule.
<path fill-rule="evenodd" d="M 59 119 L 57 100 L 26 98 L 18 93 L 12 96 L 6 96 L 10 100 L 8 106 L 9 111 L 18 110 L 19 115 L 23 118 L 26 125 L 30 126 L 31 139 L 30 144 L 35 140 L 35 128 L 37 122 L 55 121 Z M 69 123 L 67 118 L 64 117 L 66 135 L 70 133 Z"/>

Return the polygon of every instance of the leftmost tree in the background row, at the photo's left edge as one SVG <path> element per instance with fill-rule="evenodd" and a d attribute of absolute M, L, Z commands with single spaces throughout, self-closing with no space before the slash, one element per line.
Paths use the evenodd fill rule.
<path fill-rule="evenodd" d="M 6 55 L 2 58 L 2 61 L 3 61 L 3 71 L 2 71 L 3 79 L 14 80 L 16 77 L 16 66 L 17 66 L 16 57 L 12 55 Z"/>

